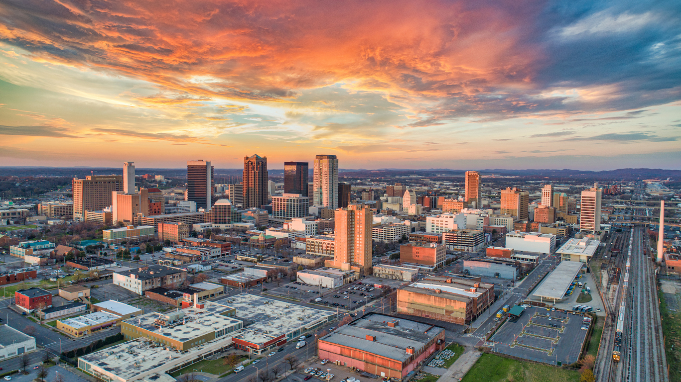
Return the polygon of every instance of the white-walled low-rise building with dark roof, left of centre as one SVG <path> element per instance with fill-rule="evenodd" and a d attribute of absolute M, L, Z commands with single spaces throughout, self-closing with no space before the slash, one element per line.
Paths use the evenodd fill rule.
<path fill-rule="evenodd" d="M 187 271 L 165 265 L 151 265 L 114 273 L 114 285 L 140 296 L 154 288 L 177 289 L 187 283 Z"/>

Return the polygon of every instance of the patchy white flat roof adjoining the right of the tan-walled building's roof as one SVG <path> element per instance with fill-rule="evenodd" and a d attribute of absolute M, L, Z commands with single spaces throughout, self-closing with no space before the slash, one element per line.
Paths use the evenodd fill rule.
<path fill-rule="evenodd" d="M 246 293 L 219 302 L 236 309 L 236 317 L 249 323 L 236 338 L 253 344 L 266 343 L 298 328 L 315 326 L 335 314 Z"/>

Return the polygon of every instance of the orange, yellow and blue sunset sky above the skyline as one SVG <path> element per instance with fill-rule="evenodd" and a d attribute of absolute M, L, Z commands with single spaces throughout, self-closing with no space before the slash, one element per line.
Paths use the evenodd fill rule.
<path fill-rule="evenodd" d="M 681 169 L 681 3 L 0 0 L 0 166 Z"/>

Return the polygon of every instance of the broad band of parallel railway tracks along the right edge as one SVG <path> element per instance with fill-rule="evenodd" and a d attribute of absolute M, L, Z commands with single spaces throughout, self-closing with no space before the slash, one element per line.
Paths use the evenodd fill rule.
<path fill-rule="evenodd" d="M 634 228 L 627 311 L 624 320 L 623 359 L 616 380 L 666 382 L 667 360 L 656 295 L 654 264 L 644 254 L 644 228 Z"/>

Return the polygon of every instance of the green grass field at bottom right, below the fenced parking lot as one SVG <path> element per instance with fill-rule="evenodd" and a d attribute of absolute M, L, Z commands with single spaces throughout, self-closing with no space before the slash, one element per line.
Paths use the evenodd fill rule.
<path fill-rule="evenodd" d="M 577 382 L 580 373 L 554 366 L 533 364 L 483 354 L 464 376 L 462 382 Z"/>

